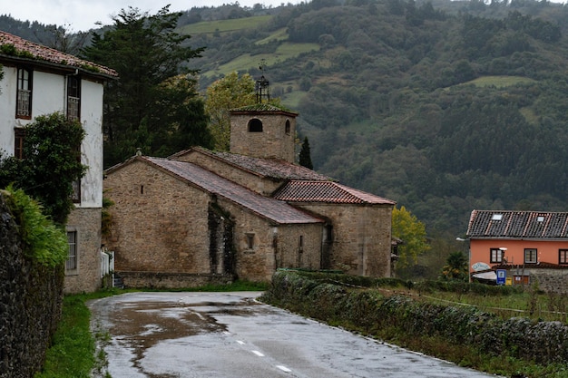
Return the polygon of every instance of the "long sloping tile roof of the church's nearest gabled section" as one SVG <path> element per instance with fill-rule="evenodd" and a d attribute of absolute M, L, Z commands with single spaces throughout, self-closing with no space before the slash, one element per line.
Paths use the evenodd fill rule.
<path fill-rule="evenodd" d="M 246 189 L 228 179 L 212 173 L 209 170 L 183 161 L 167 160 L 150 157 L 136 157 L 123 163 L 124 165 L 133 160 L 142 160 L 151 163 L 154 166 L 166 170 L 180 179 L 192 183 L 204 189 L 211 194 L 229 199 L 244 208 L 268 218 L 279 224 L 305 224 L 305 223 L 322 223 L 323 220 L 315 218 L 298 208 L 294 208 L 286 202 L 277 199 L 263 197 L 260 194 Z M 112 170 L 118 169 L 118 166 Z"/>

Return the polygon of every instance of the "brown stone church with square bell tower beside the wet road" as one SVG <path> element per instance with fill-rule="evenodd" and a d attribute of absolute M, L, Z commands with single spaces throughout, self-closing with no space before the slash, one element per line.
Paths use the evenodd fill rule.
<path fill-rule="evenodd" d="M 230 111 L 230 152 L 138 154 L 107 170 L 105 247 L 126 286 L 178 288 L 279 268 L 390 276 L 395 202 L 295 164 L 297 113 Z"/>

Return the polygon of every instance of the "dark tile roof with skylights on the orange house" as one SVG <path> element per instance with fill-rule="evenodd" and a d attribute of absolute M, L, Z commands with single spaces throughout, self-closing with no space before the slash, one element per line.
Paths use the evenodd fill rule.
<path fill-rule="evenodd" d="M 474 210 L 470 238 L 568 238 L 568 213 L 543 211 Z"/>

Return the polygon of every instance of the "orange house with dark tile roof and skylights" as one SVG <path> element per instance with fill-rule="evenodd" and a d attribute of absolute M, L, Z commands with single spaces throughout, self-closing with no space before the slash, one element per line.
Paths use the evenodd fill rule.
<path fill-rule="evenodd" d="M 568 268 L 568 213 L 474 210 L 466 235 L 470 275 L 508 269 L 528 283 L 536 269 Z"/>

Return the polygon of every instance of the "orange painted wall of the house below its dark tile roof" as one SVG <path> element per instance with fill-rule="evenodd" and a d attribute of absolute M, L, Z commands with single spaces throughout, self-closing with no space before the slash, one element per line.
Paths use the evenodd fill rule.
<path fill-rule="evenodd" d="M 568 240 L 506 240 L 506 239 L 470 239 L 470 261 L 469 270 L 473 272 L 472 266 L 475 263 L 483 262 L 490 267 L 491 248 L 505 247 L 507 250 L 504 257 L 508 264 L 524 263 L 524 248 L 536 248 L 538 262 L 558 264 L 558 250 L 568 249 Z"/>

